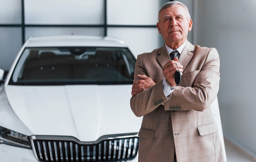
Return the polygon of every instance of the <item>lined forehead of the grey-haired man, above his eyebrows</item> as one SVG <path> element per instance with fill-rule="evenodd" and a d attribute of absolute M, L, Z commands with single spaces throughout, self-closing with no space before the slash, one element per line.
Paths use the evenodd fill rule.
<path fill-rule="evenodd" d="M 186 16 L 187 11 L 184 7 L 182 7 L 180 4 L 174 4 L 171 7 L 168 7 L 166 9 L 163 9 L 160 12 L 161 17 L 166 17 L 166 16 Z"/>

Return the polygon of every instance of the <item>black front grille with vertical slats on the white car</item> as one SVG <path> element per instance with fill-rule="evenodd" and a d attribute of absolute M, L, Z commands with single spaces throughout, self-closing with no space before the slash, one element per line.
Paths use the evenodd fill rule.
<path fill-rule="evenodd" d="M 80 142 L 72 137 L 33 136 L 31 143 L 41 162 L 121 162 L 135 158 L 139 137 L 137 133 L 108 135 L 96 142 Z"/>

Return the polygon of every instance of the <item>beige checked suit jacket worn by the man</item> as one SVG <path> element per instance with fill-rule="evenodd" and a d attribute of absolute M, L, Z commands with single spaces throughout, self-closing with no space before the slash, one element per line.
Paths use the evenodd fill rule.
<path fill-rule="evenodd" d="M 179 58 L 182 81 L 168 99 L 162 80 L 163 66 L 170 60 L 164 46 L 137 57 L 135 80 L 144 74 L 156 83 L 130 100 L 135 115 L 143 116 L 139 162 L 173 162 L 174 152 L 177 162 L 224 162 L 210 107 L 219 89 L 218 52 L 187 41 Z"/>

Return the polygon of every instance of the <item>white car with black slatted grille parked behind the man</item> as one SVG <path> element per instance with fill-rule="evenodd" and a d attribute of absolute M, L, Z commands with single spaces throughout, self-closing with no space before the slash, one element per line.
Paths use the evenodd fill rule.
<path fill-rule="evenodd" d="M 0 162 L 137 162 L 135 61 L 115 38 L 29 38 L 0 69 Z"/>

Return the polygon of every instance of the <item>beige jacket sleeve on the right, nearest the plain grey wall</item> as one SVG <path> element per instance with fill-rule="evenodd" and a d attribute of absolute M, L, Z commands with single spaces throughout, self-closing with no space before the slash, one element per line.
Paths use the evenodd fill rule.
<path fill-rule="evenodd" d="M 200 49 L 197 49 L 195 59 L 191 60 L 191 66 L 186 67 L 189 70 L 184 70 L 182 85 L 176 86 L 171 98 L 164 103 L 165 110 L 177 110 L 175 108 L 178 107 L 178 111 L 204 111 L 217 97 L 220 82 L 219 54 L 214 48 L 202 52 Z"/>

